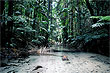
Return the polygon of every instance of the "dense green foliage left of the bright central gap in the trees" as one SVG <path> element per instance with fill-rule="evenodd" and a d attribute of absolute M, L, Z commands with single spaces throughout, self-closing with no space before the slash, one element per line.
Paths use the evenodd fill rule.
<path fill-rule="evenodd" d="M 35 42 L 37 45 L 41 46 L 42 44 L 47 44 L 45 41 L 48 41 L 47 35 L 48 32 L 48 2 L 42 4 L 43 1 L 14 1 L 13 2 L 13 14 L 8 16 L 9 14 L 9 3 L 5 2 L 5 9 L 3 13 L 3 20 L 5 20 L 5 26 L 3 32 L 5 37 L 7 37 L 7 33 L 13 35 L 9 38 L 11 47 L 20 47 L 20 45 L 25 44 L 26 42 Z M 7 25 L 8 21 L 13 21 L 10 25 Z M 9 24 L 9 23 L 8 23 Z M 7 32 L 6 32 L 7 31 Z M 10 32 L 8 32 L 10 31 Z M 11 38 L 16 40 L 16 42 L 12 42 Z M 7 41 L 6 41 L 7 42 Z M 5 44 L 6 44 L 5 42 Z M 44 43 L 45 42 L 45 43 Z M 21 44 L 20 44 L 21 43 Z"/>

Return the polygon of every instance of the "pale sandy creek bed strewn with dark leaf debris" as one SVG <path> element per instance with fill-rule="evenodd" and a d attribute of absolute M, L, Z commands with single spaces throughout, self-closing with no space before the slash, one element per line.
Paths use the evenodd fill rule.
<path fill-rule="evenodd" d="M 11 66 L 0 67 L 0 73 L 110 73 L 110 58 L 106 56 L 85 52 L 53 54 L 11 61 Z M 63 61 L 64 55 L 69 60 Z"/>

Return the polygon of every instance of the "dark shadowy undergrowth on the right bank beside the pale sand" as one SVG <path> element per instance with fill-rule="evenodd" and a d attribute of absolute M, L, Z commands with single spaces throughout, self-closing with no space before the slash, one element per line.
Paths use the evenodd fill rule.
<path fill-rule="evenodd" d="M 69 48 L 75 48 L 80 51 L 99 53 L 110 56 L 109 53 L 109 23 L 104 25 L 97 25 L 84 35 L 72 37 L 67 40 Z"/>

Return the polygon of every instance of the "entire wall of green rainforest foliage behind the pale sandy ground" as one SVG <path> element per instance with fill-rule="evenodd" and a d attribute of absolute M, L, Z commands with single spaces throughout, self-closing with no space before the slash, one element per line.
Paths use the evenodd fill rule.
<path fill-rule="evenodd" d="M 101 8 L 101 2 L 98 4 L 97 2 L 90 2 L 91 8 L 93 6 L 93 14 L 90 14 L 86 0 L 59 0 L 52 2 L 50 6 L 47 0 L 14 2 L 13 14 L 8 16 L 9 4 L 6 1 L 4 12 L 1 15 L 3 16 L 3 21 L 5 21 L 5 25 L 3 26 L 5 30 L 3 31 L 5 33 L 10 31 L 10 34 L 13 34 L 12 36 L 14 36 L 13 38 L 17 42 L 34 42 L 39 45 L 43 43 L 47 44 L 45 41 L 48 41 L 48 39 L 60 42 L 63 40 L 63 42 L 74 45 L 76 44 L 75 41 L 83 40 L 85 43 L 88 43 L 94 39 L 108 36 L 106 29 L 100 31 L 94 30 L 103 26 L 105 27 L 108 24 L 106 22 L 110 21 L 110 16 L 101 15 L 104 11 L 104 14 L 106 13 L 106 9 L 102 8 L 103 11 L 101 9 L 99 16 L 97 16 L 98 11 L 96 9 L 98 7 Z M 106 3 L 104 4 L 106 5 Z M 96 16 L 90 17 L 90 15 Z M 92 21 L 89 17 L 96 19 L 97 23 L 91 25 Z M 9 23 L 8 21 L 13 21 L 11 27 L 8 27 L 10 26 L 7 24 Z M 86 33 L 88 30 L 94 31 Z M 4 35 L 7 36 L 7 34 Z M 10 44 L 10 46 L 14 47 L 13 42 Z"/>

